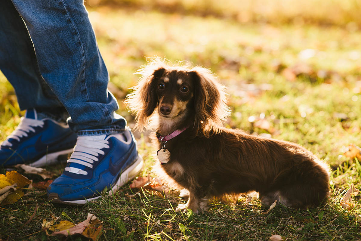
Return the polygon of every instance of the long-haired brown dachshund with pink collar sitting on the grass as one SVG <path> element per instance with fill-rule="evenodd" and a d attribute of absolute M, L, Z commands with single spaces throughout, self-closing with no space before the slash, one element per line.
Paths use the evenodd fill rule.
<path fill-rule="evenodd" d="M 326 201 L 327 167 L 311 152 L 222 126 L 229 115 L 225 88 L 209 70 L 155 61 L 139 73 L 142 77 L 126 103 L 140 130 L 155 126 L 159 166 L 190 192 L 177 211 L 198 213 L 212 196 L 251 190 L 260 193 L 265 205 L 278 200 L 305 208 Z"/>

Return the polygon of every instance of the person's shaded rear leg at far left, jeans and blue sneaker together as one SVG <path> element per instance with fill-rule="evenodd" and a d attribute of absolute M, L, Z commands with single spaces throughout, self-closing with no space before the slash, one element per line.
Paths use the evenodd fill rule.
<path fill-rule="evenodd" d="M 0 8 L 0 69 L 27 110 L 0 145 L 0 165 L 43 166 L 71 153 L 77 134 L 65 125 L 69 115 L 42 79 L 29 32 L 11 0 Z"/>

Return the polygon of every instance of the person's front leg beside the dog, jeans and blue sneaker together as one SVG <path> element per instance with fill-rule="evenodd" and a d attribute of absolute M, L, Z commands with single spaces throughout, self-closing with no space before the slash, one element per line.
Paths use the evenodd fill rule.
<path fill-rule="evenodd" d="M 108 72 L 82 0 L 13 0 L 24 19 L 40 73 L 70 114 L 77 144 L 49 200 L 86 203 L 117 190 L 143 167 L 136 142 L 107 90 Z"/>

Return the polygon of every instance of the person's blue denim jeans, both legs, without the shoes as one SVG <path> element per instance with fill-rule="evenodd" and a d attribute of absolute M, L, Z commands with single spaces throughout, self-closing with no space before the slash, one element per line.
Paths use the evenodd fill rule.
<path fill-rule="evenodd" d="M 2 0 L 0 69 L 21 110 L 67 111 L 78 135 L 126 126 L 83 0 Z"/>

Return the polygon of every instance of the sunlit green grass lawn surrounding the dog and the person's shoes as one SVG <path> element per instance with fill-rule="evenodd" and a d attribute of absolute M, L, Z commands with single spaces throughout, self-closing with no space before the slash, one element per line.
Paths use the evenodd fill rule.
<path fill-rule="evenodd" d="M 142 5 L 142 1 L 135 3 Z M 203 214 L 181 215 L 174 212 L 177 204 L 184 202 L 177 191 L 164 198 L 140 190 L 139 196 L 130 199 L 125 194 L 132 190 L 124 187 L 113 198 L 69 207 L 48 203 L 44 192 L 31 190 L 16 204 L 0 207 L 0 238 L 64 240 L 46 237 L 40 231 L 43 219 L 50 220 L 51 214 L 61 216 L 64 211 L 74 222 L 86 219 L 87 212 L 104 221 L 101 240 L 268 240 L 272 234 L 287 240 L 361 240 L 360 196 L 351 211 L 339 204 L 351 183 L 361 188 L 360 165 L 342 155 L 349 144 L 361 145 L 361 33 L 337 24 L 316 24 L 329 21 L 327 18 L 339 22 L 337 16 L 321 16 L 321 20 L 327 21 L 303 24 L 282 19 L 277 22 L 276 17 L 268 21 L 271 24 L 262 21 L 241 24 L 235 18 L 223 18 L 222 14 L 190 15 L 172 13 L 174 9 L 159 12 L 155 8 L 146 11 L 146 4 L 141 9 L 114 6 L 89 9 L 110 81 L 118 88 L 116 96 L 121 106 L 118 113 L 133 124 L 122 98 L 129 93 L 128 87 L 135 85 L 138 76 L 133 73 L 146 63 L 146 57 L 187 60 L 209 67 L 228 87 L 232 115 L 225 122 L 227 127 L 293 141 L 330 165 L 331 197 L 327 204 L 309 210 L 275 208 L 262 214 L 257 200 L 248 204 L 244 198 L 236 203 L 212 200 Z M 313 8 L 307 11 L 317 15 Z M 302 52 L 305 49 L 314 49 L 309 58 L 300 54 L 307 53 Z M 296 79 L 287 79 L 283 69 L 295 65 L 310 70 Z M 347 118 L 341 121 L 338 113 Z M 23 112 L 19 111 L 14 91 L 0 76 L 0 141 L 19 123 L 19 114 Z M 270 122 L 274 132 L 268 133 L 249 122 L 249 117 L 260 115 Z M 147 175 L 154 163 L 151 153 L 155 150 L 146 135 L 137 136 L 147 166 L 143 175 Z M 47 167 L 57 173 L 62 168 Z M 40 181 L 37 176 L 29 178 Z M 22 227 L 36 204 L 34 218 Z M 68 240 L 87 239 L 72 236 Z"/>

